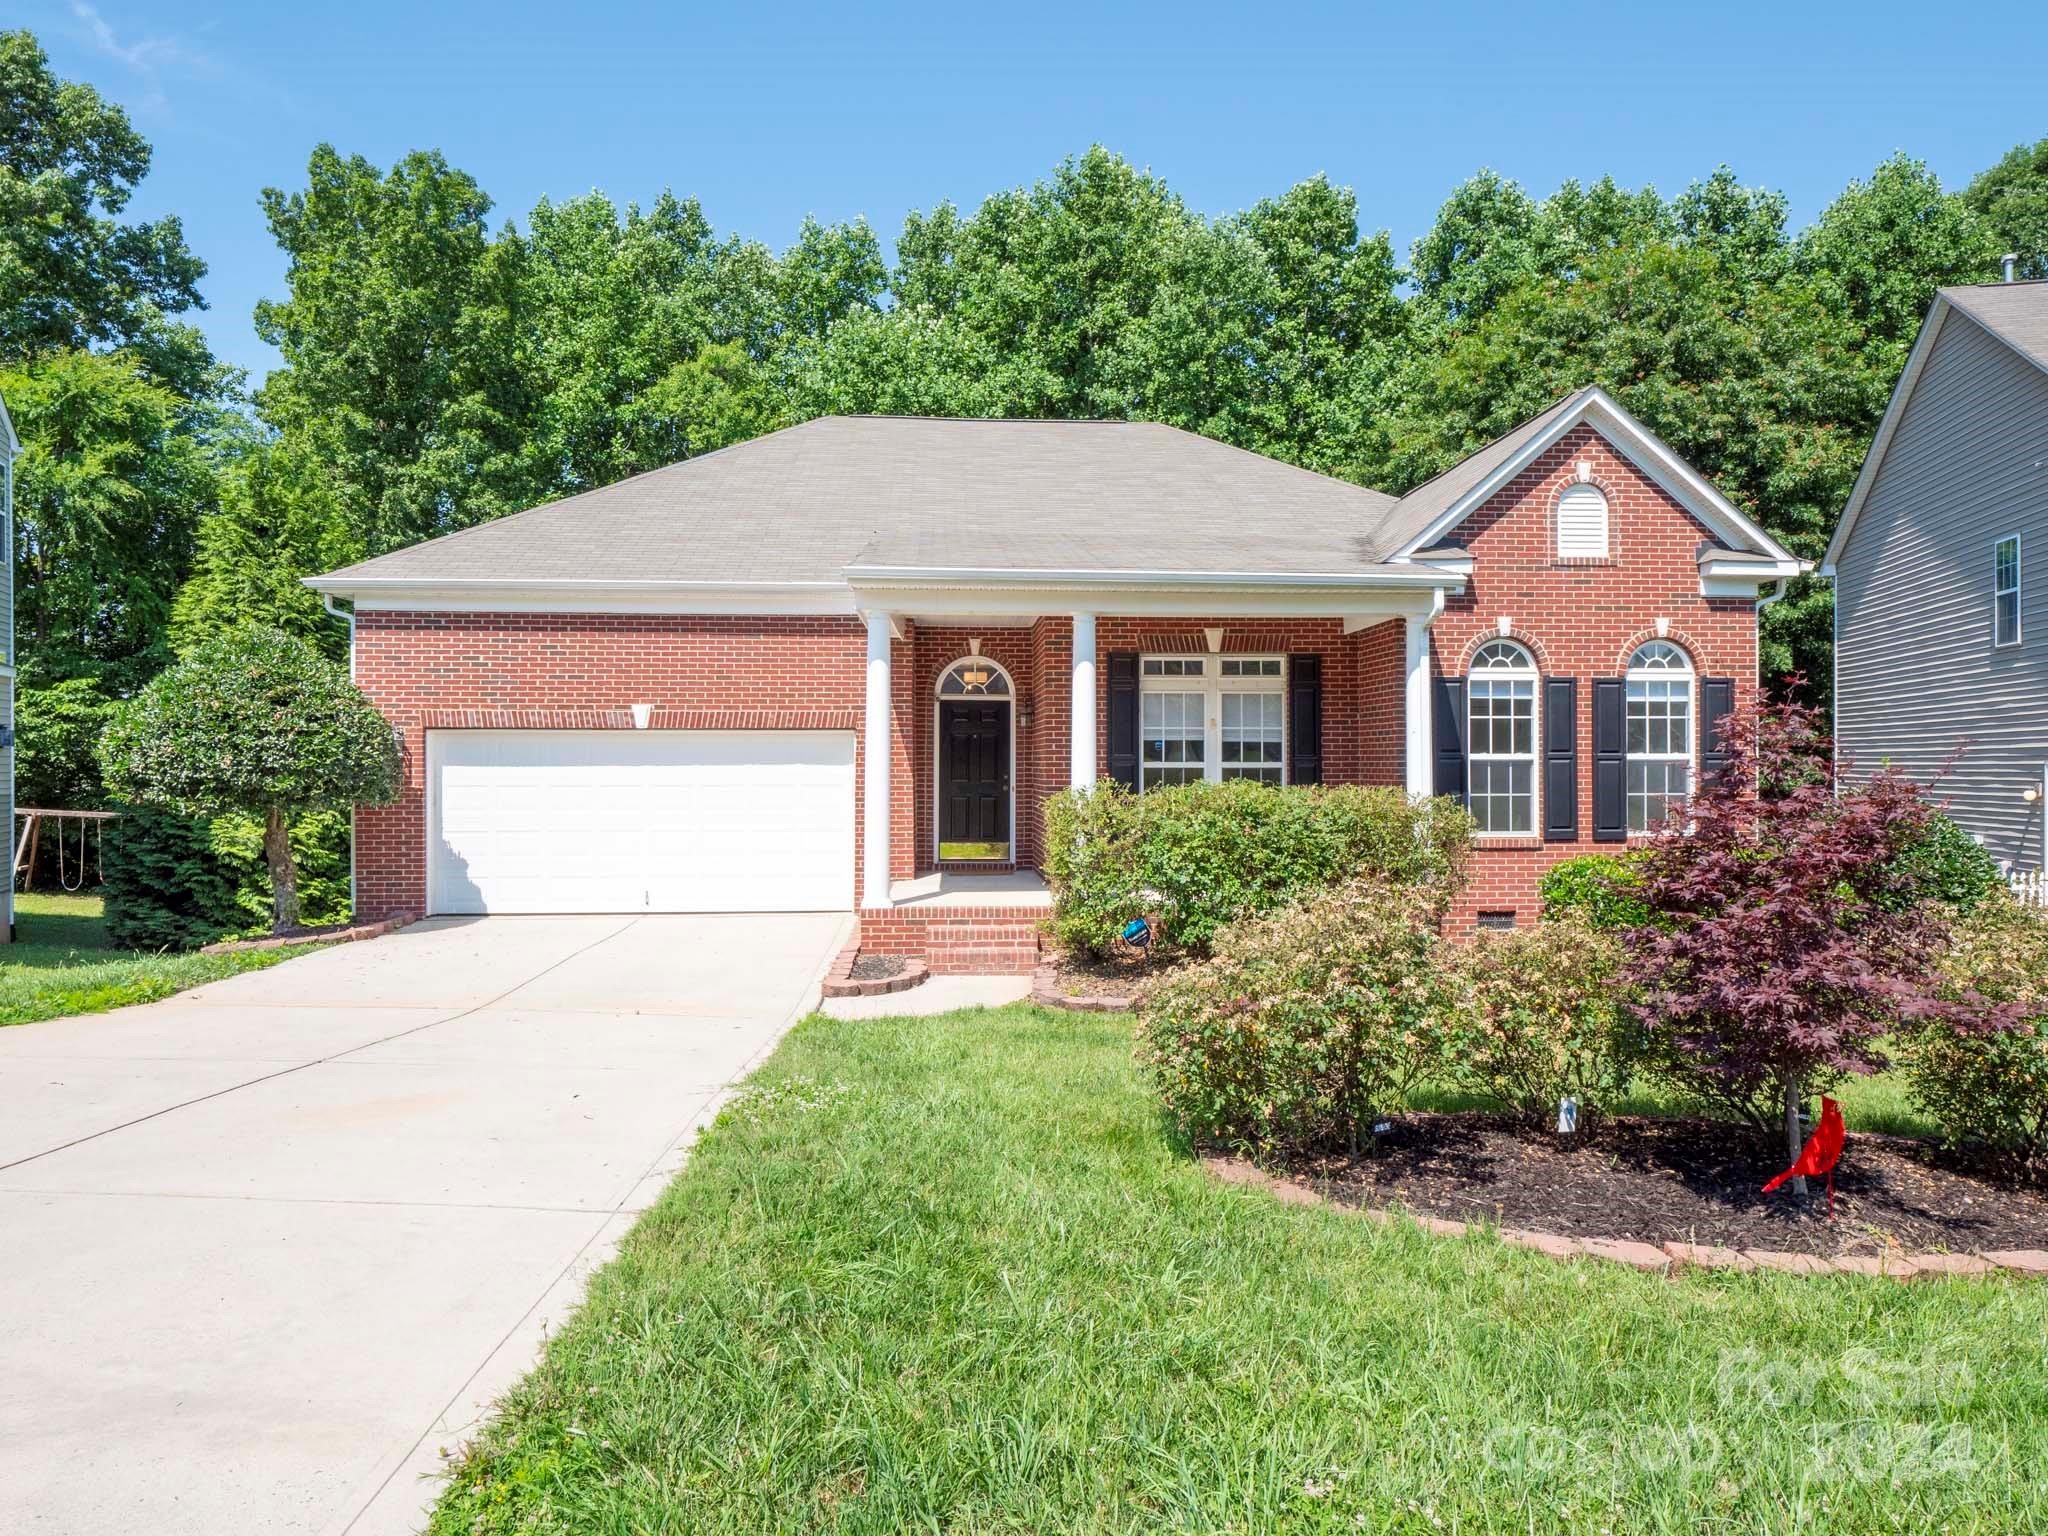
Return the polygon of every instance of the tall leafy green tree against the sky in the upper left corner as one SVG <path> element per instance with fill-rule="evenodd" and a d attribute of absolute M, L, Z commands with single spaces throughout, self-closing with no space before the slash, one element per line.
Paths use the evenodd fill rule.
<path fill-rule="evenodd" d="M 176 215 L 123 223 L 150 143 L 92 86 L 57 80 L 33 33 L 0 33 L 0 362 L 125 346 L 186 397 L 219 377 L 199 332 L 205 264 Z"/>

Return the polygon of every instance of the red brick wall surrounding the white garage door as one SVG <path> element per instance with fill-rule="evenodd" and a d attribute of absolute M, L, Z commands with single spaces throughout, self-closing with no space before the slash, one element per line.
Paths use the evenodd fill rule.
<path fill-rule="evenodd" d="M 426 905 L 428 725 L 631 729 L 627 707 L 653 705 L 670 729 L 858 733 L 866 631 L 829 616 L 358 612 L 356 682 L 406 754 L 397 805 L 356 813 L 356 915 L 375 920 Z M 858 821 L 856 791 L 856 870 Z M 907 858 L 907 827 L 901 846 Z"/>

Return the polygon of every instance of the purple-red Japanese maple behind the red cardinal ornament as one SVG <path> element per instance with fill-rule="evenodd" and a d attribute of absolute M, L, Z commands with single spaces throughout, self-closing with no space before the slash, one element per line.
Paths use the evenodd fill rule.
<path fill-rule="evenodd" d="M 1729 766 L 1642 858 L 1653 922 L 1630 981 L 1649 1063 L 1688 1096 L 1800 1149 L 1806 1092 L 1880 1071 L 1878 1040 L 1935 1008 L 1937 903 L 1901 854 L 1933 803 L 1886 768 L 1833 782 L 1815 711 L 1751 705 L 1724 723 Z"/>

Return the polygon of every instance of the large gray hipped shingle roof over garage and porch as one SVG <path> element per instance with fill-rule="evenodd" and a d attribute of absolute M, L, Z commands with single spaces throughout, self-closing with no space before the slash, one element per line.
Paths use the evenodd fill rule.
<path fill-rule="evenodd" d="M 319 584 L 836 584 L 848 565 L 1358 575 L 1393 506 L 1171 426 L 825 416 Z"/>

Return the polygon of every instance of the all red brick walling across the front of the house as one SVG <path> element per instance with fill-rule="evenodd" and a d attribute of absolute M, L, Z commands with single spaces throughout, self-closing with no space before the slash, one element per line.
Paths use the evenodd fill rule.
<path fill-rule="evenodd" d="M 1554 559 L 1552 510 L 1581 461 L 1608 492 L 1612 553 Z M 1700 676 L 1755 682 L 1755 614 L 1747 598 L 1702 598 L 1698 547 L 1708 539 L 1661 487 L 1591 428 L 1552 446 L 1450 535 L 1475 557 L 1475 575 L 1432 635 L 1432 666 L 1462 672 L 1470 651 L 1507 616 L 1546 674 L 1579 688 L 1579 844 L 1489 840 L 1475 856 L 1462 907 L 1534 911 L 1542 868 L 1602 848 L 1591 842 L 1591 690 L 1618 676 L 1628 653 L 1669 621 Z M 1098 772 L 1108 770 L 1108 653 L 1204 651 L 1223 629 L 1225 653 L 1323 657 L 1323 778 L 1399 784 L 1405 774 L 1399 618 L 1346 635 L 1337 618 L 1128 618 L 1096 623 Z M 1042 805 L 1067 782 L 1071 621 L 1028 629 L 915 627 L 895 645 L 891 731 L 891 870 L 934 866 L 934 731 L 942 668 L 981 639 L 1016 682 L 1016 842 L 1020 862 L 1042 854 Z M 362 612 L 356 676 L 406 745 L 403 799 L 356 821 L 358 915 L 420 909 L 426 899 L 424 731 L 428 725 L 629 727 L 627 705 L 657 709 L 672 729 L 854 729 L 864 709 L 864 629 L 858 618 L 676 614 Z M 1022 725 L 1022 715 L 1030 725 Z M 864 745 L 862 745 L 864 750 Z M 860 766 L 856 764 L 856 784 Z M 856 870 L 858 870 L 856 791 Z"/>

